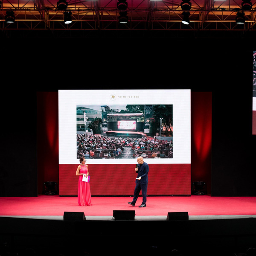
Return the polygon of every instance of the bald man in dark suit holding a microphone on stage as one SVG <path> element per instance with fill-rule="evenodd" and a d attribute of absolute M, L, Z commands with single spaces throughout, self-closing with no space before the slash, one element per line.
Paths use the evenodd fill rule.
<path fill-rule="evenodd" d="M 134 198 L 128 204 L 135 206 L 140 190 L 142 192 L 142 204 L 139 207 L 146 207 L 147 201 L 147 189 L 148 189 L 148 164 L 144 162 L 143 157 L 137 158 L 138 165 L 135 168 L 135 171 L 138 173 L 136 178 L 136 186 L 134 189 Z"/>

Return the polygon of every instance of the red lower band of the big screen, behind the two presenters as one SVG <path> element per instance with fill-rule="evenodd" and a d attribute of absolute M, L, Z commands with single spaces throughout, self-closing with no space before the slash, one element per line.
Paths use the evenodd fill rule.
<path fill-rule="evenodd" d="M 135 165 L 88 165 L 92 195 L 133 195 Z M 78 165 L 59 165 L 59 195 L 77 195 Z M 148 195 L 190 195 L 190 164 L 149 164 Z"/>

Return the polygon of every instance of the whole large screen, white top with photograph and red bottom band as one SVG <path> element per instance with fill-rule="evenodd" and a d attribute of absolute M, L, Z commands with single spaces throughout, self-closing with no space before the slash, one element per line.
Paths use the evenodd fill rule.
<path fill-rule="evenodd" d="M 60 196 L 77 195 L 81 156 L 92 196 L 133 195 L 140 155 L 148 195 L 190 195 L 190 90 L 59 90 L 58 108 Z"/>

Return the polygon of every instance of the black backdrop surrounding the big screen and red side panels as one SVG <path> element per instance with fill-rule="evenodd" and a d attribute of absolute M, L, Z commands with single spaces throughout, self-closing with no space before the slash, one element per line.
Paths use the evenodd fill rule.
<path fill-rule="evenodd" d="M 37 195 L 37 164 L 44 165 L 37 163 L 37 91 L 92 88 L 212 92 L 212 196 L 255 196 L 255 44 L 251 38 L 2 40 L 0 196 Z"/>

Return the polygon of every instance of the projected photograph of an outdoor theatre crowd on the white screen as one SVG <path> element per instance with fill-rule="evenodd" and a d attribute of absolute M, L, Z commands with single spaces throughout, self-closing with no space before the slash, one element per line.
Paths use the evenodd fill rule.
<path fill-rule="evenodd" d="M 173 105 L 76 105 L 76 158 L 173 158 Z"/>

